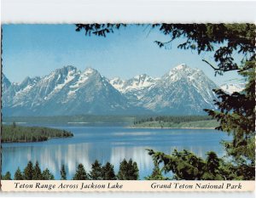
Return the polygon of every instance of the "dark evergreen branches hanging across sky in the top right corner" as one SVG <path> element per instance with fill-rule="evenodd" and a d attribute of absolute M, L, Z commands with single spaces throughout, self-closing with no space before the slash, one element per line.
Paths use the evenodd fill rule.
<path fill-rule="evenodd" d="M 198 54 L 214 51 L 214 60 L 218 65 L 211 65 L 216 74 L 225 71 L 241 71 L 234 61 L 235 53 L 245 54 L 252 60 L 255 53 L 255 25 L 253 24 L 157 24 L 154 27 L 171 38 L 185 37 L 186 41 L 177 48 L 196 50 Z M 157 42 L 160 47 L 168 42 Z M 216 48 L 215 44 L 219 44 Z M 244 68 L 243 68 L 244 69 Z"/>

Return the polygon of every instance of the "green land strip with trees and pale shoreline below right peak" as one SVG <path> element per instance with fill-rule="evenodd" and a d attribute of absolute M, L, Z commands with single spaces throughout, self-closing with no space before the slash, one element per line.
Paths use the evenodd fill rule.
<path fill-rule="evenodd" d="M 135 121 L 131 127 L 214 129 L 218 122 L 209 116 L 151 116 Z"/>

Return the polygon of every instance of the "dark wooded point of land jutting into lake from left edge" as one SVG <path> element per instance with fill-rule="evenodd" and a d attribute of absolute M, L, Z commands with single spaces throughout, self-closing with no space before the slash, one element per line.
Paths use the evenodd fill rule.
<path fill-rule="evenodd" d="M 73 133 L 66 130 L 49 127 L 25 127 L 12 125 L 2 125 L 2 143 L 24 143 L 41 142 L 51 138 L 73 137 Z"/>

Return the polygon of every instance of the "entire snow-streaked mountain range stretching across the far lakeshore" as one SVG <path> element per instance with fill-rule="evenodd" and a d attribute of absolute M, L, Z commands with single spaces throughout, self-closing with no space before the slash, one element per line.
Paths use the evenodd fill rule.
<path fill-rule="evenodd" d="M 203 114 L 218 86 L 202 71 L 177 65 L 160 78 L 146 74 L 108 80 L 68 65 L 43 77 L 11 83 L 3 75 L 3 116 Z"/>

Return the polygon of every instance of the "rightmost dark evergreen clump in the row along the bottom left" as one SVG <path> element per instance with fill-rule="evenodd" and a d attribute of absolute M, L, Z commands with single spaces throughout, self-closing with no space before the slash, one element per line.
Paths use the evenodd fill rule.
<path fill-rule="evenodd" d="M 139 178 L 137 162 L 132 162 L 130 159 L 128 162 L 124 159 L 120 163 L 119 173 L 117 178 L 119 180 L 137 180 Z"/>

